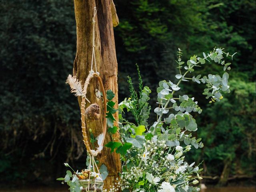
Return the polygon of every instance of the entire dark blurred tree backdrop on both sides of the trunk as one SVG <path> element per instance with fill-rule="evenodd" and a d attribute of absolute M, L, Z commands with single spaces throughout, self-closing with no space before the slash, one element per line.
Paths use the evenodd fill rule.
<path fill-rule="evenodd" d="M 204 159 L 209 176 L 223 171 L 255 176 L 255 1 L 114 2 L 120 20 L 115 28 L 120 101 L 129 94 L 126 76 L 137 76 L 135 63 L 144 84 L 154 89 L 159 80 L 174 80 L 178 47 L 184 58 L 214 46 L 238 52 L 230 72 L 232 94 L 222 102 L 208 104 L 198 84 L 183 84 L 204 109 L 196 118 L 205 147 L 200 153 L 192 151 L 190 160 Z M 79 107 L 64 84 L 76 51 L 73 2 L 0 4 L 0 172 L 12 173 L 0 182 L 48 183 L 62 172 L 60 163 L 69 161 L 82 169 L 85 156 Z M 198 73 L 221 70 L 207 65 Z"/>

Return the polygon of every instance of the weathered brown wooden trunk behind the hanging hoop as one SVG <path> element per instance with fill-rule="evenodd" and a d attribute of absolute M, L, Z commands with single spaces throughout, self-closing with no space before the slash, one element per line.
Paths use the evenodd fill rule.
<path fill-rule="evenodd" d="M 86 76 L 91 68 L 92 59 L 92 17 L 94 6 L 97 8 L 95 23 L 95 54 L 98 72 L 103 80 L 105 90 L 111 89 L 115 93 L 114 102 L 116 108 L 118 104 L 118 85 L 117 85 L 117 60 L 114 42 L 113 22 L 118 24 L 112 0 L 74 0 L 76 16 L 77 52 L 74 60 L 73 75 L 84 83 Z M 112 16 L 112 13 L 115 16 Z M 86 97 L 91 103 L 97 102 L 102 107 L 100 101 L 96 100 L 95 89 L 98 88 L 96 78 L 92 79 L 88 87 Z M 99 88 L 98 88 L 99 89 Z M 80 104 L 81 99 L 78 98 Z M 87 103 L 87 106 L 89 104 Z M 86 106 L 86 107 L 87 107 Z M 103 117 L 103 110 L 101 110 Z M 118 120 L 118 115 L 114 116 Z M 86 122 L 86 130 L 92 130 L 94 136 L 102 133 L 102 119 L 96 122 Z M 114 137 L 118 138 L 116 134 Z M 110 141 L 110 136 L 106 134 L 104 144 Z M 104 188 L 114 185 L 114 180 L 121 171 L 120 156 L 110 153 L 110 149 L 104 147 L 101 154 L 96 157 L 100 164 L 105 164 L 108 168 L 109 176 L 104 181 Z"/>

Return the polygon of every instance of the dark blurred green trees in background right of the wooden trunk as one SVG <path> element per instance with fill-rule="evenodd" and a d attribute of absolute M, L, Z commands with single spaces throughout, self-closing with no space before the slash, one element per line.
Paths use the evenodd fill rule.
<path fill-rule="evenodd" d="M 175 82 L 174 77 L 180 67 L 186 66 L 181 60 L 178 69 L 175 67 L 173 58 L 174 48 L 184 48 L 186 52 L 195 52 L 196 55 L 202 50 L 209 50 L 212 46 L 226 46 L 229 48 L 229 52 L 238 51 L 236 57 L 232 62 L 232 71 L 228 72 L 230 78 L 239 82 L 238 84 L 254 84 L 255 82 L 255 1 L 224 1 L 219 2 L 217 0 L 203 1 L 203 0 L 171 0 L 171 1 L 159 1 L 152 0 L 140 0 L 140 1 L 120 1 L 115 2 L 117 12 L 120 20 L 120 26 L 115 28 L 116 32 L 116 46 L 118 47 L 118 63 L 122 63 L 123 66 L 119 68 L 119 98 L 125 98 L 128 95 L 128 91 L 125 89 L 126 84 L 124 76 L 129 74 L 131 77 L 135 76 L 133 63 L 130 62 L 132 58 L 133 62 L 140 64 L 142 74 L 144 75 L 144 83 L 150 85 L 152 90 L 157 87 L 154 86 L 156 81 L 162 79 L 171 78 Z M 184 53 L 184 57 L 188 58 L 188 55 Z M 178 53 L 178 58 L 182 56 L 182 52 Z M 223 54 L 225 56 L 225 54 Z M 200 56 L 204 57 L 204 56 Z M 199 58 L 201 64 L 204 64 L 204 60 Z M 207 61 L 204 65 L 207 64 Z M 248 130 L 248 133 L 252 136 L 255 135 L 255 120 L 251 120 L 248 117 L 255 116 L 255 99 L 249 94 L 244 94 L 242 100 L 249 100 L 250 104 L 240 103 L 237 105 L 238 100 L 234 96 L 232 90 L 231 94 L 226 96 L 223 94 L 223 101 L 215 104 L 215 100 L 211 104 L 204 101 L 202 97 L 211 97 L 211 92 L 208 87 L 202 86 L 200 74 L 223 74 L 223 70 L 228 71 L 230 67 L 229 63 L 220 65 L 207 65 L 202 69 L 198 68 L 195 72 L 195 76 L 189 76 L 192 81 L 200 83 L 200 85 L 194 85 L 190 82 L 186 82 L 181 87 L 190 92 L 188 95 L 193 95 L 196 100 L 200 100 L 200 108 L 206 110 L 208 105 L 214 105 L 215 110 L 207 110 L 201 116 L 197 116 L 197 124 L 199 129 L 198 136 L 204 140 L 211 141 L 207 143 L 202 152 L 188 154 L 187 157 L 200 161 L 203 157 L 202 154 L 206 152 L 208 148 L 211 148 L 208 152 L 208 156 L 204 155 L 204 166 L 207 166 L 208 172 L 205 173 L 211 176 L 220 176 L 222 170 L 224 170 L 224 160 L 217 158 L 211 160 L 213 157 L 218 157 L 220 154 L 224 154 L 225 158 L 228 154 L 232 154 L 231 175 L 249 174 L 245 170 L 250 169 L 255 171 L 254 163 L 251 163 L 249 156 L 241 154 L 247 154 L 247 149 L 250 148 L 252 156 L 255 156 L 255 140 L 248 139 L 247 134 L 241 134 L 242 130 Z M 177 70 L 175 70 L 175 68 Z M 191 70 L 191 69 L 190 69 Z M 193 70 L 193 69 L 192 69 Z M 208 77 L 207 77 L 208 78 Z M 220 78 L 223 78 L 220 75 Z M 224 80 L 224 84 L 225 84 Z M 232 82 L 231 82 L 232 83 Z M 221 85 L 221 84 L 220 84 Z M 205 90 L 205 94 L 202 95 L 198 92 L 198 86 Z M 232 83 L 233 88 L 238 86 Z M 250 90 L 253 92 L 252 86 Z M 159 89 L 158 89 L 159 90 Z M 209 91 L 208 91 L 209 90 Z M 241 89 L 243 90 L 243 88 Z M 186 93 L 182 93 L 186 94 Z M 181 94 L 181 95 L 182 95 Z M 207 95 L 208 94 L 208 95 Z M 218 96 L 218 95 L 217 95 Z M 151 98 L 156 98 L 156 94 L 152 92 Z M 166 97 L 171 97 L 171 94 Z M 236 100 L 235 100 L 236 99 Z M 153 99 L 152 99 L 153 100 Z M 153 103 L 150 102 L 153 106 Z M 216 107 L 215 107 L 216 105 Z M 250 106 L 244 108 L 245 106 Z M 218 108 L 222 106 L 221 110 Z M 224 106 L 233 108 L 233 110 L 226 110 Z M 154 105 L 154 108 L 158 105 Z M 176 106 L 174 106 L 175 108 Z M 178 110 L 178 107 L 176 109 Z M 240 110 L 238 112 L 238 110 Z M 208 112 L 211 111 L 211 112 Z M 218 111 L 218 112 L 214 112 Z M 239 116 L 237 114 L 240 114 Z M 249 116 L 247 114 L 250 114 Z M 218 116 L 214 118 L 215 116 Z M 152 116 L 152 114 L 150 114 Z M 129 119 L 129 116 L 125 116 Z M 227 118 L 224 118 L 227 117 Z M 218 122 L 224 118 L 225 123 Z M 236 124 L 242 124 L 243 126 L 235 126 L 235 130 L 228 122 L 230 118 L 236 119 Z M 151 118 L 150 118 L 151 120 Z M 150 123 L 150 120 L 148 123 Z M 152 120 L 151 120 L 152 121 Z M 174 123 L 174 120 L 173 120 Z M 218 126 L 216 126 L 218 124 Z M 240 134 L 236 134 L 239 132 Z M 223 138 L 223 135 L 226 135 Z M 239 136 L 238 136 L 239 135 Z M 237 148 L 235 142 L 230 138 L 238 137 L 236 142 L 246 144 L 247 147 Z M 212 138 L 212 139 L 211 139 Z M 215 139 L 213 139 L 215 138 Z M 220 142 L 227 142 L 223 145 Z M 216 144 L 215 144 L 216 143 Z M 228 149 L 228 151 L 227 151 Z M 231 152 L 230 152 L 231 151 Z M 202 153 L 202 154 L 201 154 Z M 200 157 L 199 157 L 200 156 Z M 222 156 L 222 155 L 221 155 Z M 224 158 L 224 159 L 225 159 Z M 199 160 L 198 160 L 199 159 Z M 254 168 L 252 168 L 254 166 Z M 244 169 L 246 167 L 246 169 Z M 208 181 L 208 180 L 207 180 Z M 204 181 L 204 182 L 207 182 Z"/>

